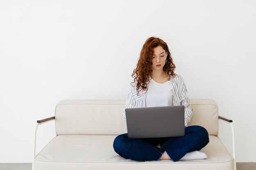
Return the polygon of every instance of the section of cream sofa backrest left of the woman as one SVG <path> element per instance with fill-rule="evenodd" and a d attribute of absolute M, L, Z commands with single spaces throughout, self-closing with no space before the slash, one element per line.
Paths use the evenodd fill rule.
<path fill-rule="evenodd" d="M 55 108 L 57 135 L 127 133 L 125 100 L 61 100 Z"/>

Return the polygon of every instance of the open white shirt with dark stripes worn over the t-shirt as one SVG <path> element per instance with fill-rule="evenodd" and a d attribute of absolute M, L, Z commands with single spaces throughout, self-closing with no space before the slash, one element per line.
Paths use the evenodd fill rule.
<path fill-rule="evenodd" d="M 186 85 L 183 81 L 183 78 L 177 74 L 175 77 L 170 78 L 169 83 L 171 83 L 173 86 L 173 105 L 183 105 L 185 107 L 184 126 L 186 127 L 188 126 L 188 123 L 193 115 L 191 104 L 186 90 Z M 129 93 L 123 111 L 124 118 L 126 118 L 126 108 L 146 107 L 146 91 L 141 90 L 139 91 L 138 95 L 135 84 L 136 82 L 133 83 L 129 89 Z"/>

